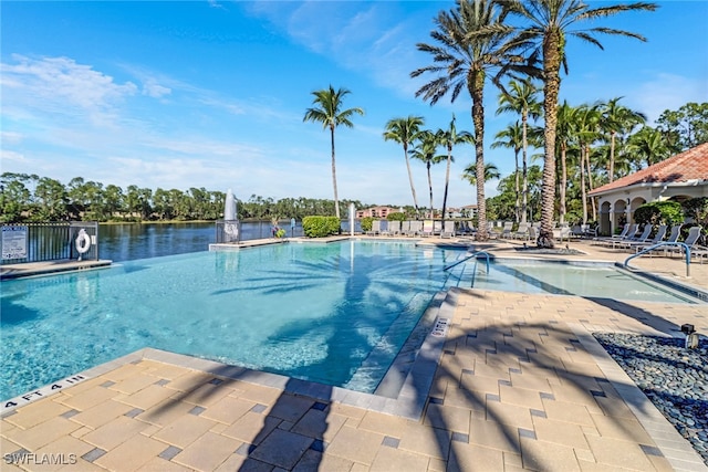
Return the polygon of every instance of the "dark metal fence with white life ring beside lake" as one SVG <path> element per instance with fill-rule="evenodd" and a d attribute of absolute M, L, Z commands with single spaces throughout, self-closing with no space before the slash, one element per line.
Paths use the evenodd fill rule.
<path fill-rule="evenodd" d="M 2 225 L 0 264 L 98 260 L 98 223 L 46 222 Z"/>

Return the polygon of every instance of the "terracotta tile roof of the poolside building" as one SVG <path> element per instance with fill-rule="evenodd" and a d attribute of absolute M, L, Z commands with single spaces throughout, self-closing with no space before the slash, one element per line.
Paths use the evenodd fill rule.
<path fill-rule="evenodd" d="M 590 195 L 605 193 L 641 183 L 673 183 L 689 180 L 706 180 L 708 182 L 708 143 L 598 187 Z"/>

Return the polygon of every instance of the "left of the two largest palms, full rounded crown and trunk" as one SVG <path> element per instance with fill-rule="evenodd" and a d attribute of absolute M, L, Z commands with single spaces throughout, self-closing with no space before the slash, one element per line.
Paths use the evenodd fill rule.
<path fill-rule="evenodd" d="M 475 126 L 475 154 L 477 165 L 478 240 L 489 238 L 487 231 L 487 203 L 485 200 L 485 107 L 483 88 L 487 75 L 492 82 L 510 70 L 521 67 L 521 57 L 512 54 L 506 44 L 508 31 L 503 31 L 503 17 L 489 0 L 457 0 L 450 11 L 440 11 L 435 19 L 436 30 L 430 38 L 437 44 L 418 43 L 418 51 L 433 55 L 433 65 L 417 69 L 412 77 L 430 73 L 431 82 L 421 86 L 416 96 L 423 96 L 435 105 L 450 93 L 450 101 L 467 88 L 472 98 L 472 123 Z M 521 48 L 517 43 L 517 48 Z"/>

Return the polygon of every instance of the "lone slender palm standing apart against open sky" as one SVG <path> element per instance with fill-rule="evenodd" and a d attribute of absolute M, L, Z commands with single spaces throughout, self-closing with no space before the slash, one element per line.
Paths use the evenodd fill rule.
<path fill-rule="evenodd" d="M 308 108 L 303 122 L 322 123 L 322 128 L 330 128 L 330 136 L 332 141 L 332 186 L 334 187 L 334 212 L 336 218 L 340 218 L 340 199 L 336 193 L 336 166 L 334 160 L 334 129 L 340 126 L 346 126 L 347 128 L 354 127 L 354 124 L 350 120 L 350 117 L 355 113 L 364 115 L 362 108 L 342 108 L 342 101 L 345 95 L 351 92 L 346 88 L 340 88 L 336 92 L 330 85 L 330 88 L 323 88 L 321 91 L 312 92 L 314 99 L 312 101 L 315 107 Z"/>

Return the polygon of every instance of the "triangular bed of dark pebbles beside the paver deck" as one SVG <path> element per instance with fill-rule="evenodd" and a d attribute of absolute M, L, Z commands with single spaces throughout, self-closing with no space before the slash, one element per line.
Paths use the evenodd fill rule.
<path fill-rule="evenodd" d="M 683 337 L 594 336 L 708 465 L 708 340 L 687 349 Z"/>

